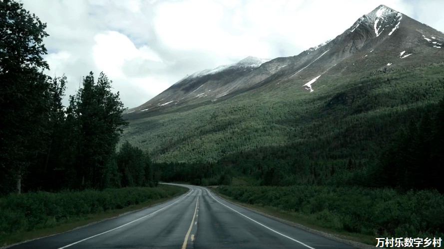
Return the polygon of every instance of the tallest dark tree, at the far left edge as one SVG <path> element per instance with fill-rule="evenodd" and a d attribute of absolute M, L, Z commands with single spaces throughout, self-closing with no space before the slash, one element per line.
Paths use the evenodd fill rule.
<path fill-rule="evenodd" d="M 48 34 L 34 14 L 13 0 L 0 1 L 0 191 L 9 192 L 35 163 L 44 142 L 49 69 L 42 55 Z"/>

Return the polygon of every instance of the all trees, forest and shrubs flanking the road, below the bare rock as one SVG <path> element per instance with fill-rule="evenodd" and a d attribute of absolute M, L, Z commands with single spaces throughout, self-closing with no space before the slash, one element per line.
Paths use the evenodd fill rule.
<path fill-rule="evenodd" d="M 373 245 L 444 237 L 443 62 L 127 120 L 103 73 L 85 75 L 63 106 L 66 77 L 43 73 L 46 24 L 21 3 L 0 7 L 0 243 L 185 191 L 160 181 L 218 185 Z"/>

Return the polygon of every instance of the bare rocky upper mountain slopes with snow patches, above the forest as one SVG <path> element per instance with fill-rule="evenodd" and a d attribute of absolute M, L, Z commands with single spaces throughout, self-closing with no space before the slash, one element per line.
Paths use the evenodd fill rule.
<path fill-rule="evenodd" d="M 270 61 L 250 56 L 233 65 L 196 72 L 128 112 L 217 101 L 272 82 L 297 81 L 305 83 L 304 89 L 313 91 L 312 84 L 321 76 L 440 61 L 443 43 L 442 32 L 380 5 L 335 39 L 297 56 Z M 412 57 L 407 59 L 409 56 Z"/>

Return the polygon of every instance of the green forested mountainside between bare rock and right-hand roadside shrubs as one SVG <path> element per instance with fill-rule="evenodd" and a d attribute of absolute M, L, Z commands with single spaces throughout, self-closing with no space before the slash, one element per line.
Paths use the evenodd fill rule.
<path fill-rule="evenodd" d="M 123 137 L 160 168 L 210 164 L 213 176 L 229 168 L 261 185 L 393 186 L 377 179 L 390 171 L 375 176 L 380 155 L 411 120 L 435 119 L 443 70 L 439 63 L 325 79 L 310 94 L 298 85 L 270 84 L 211 104 L 144 112 Z M 421 160 L 412 165 L 422 166 Z M 426 172 L 422 181 L 431 175 Z"/>

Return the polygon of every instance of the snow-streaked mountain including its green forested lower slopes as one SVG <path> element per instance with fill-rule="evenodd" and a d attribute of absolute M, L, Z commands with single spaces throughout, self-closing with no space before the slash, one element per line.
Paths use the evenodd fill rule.
<path fill-rule="evenodd" d="M 183 78 L 128 110 L 122 140 L 159 162 L 371 163 L 400 125 L 443 98 L 443 43 L 442 32 L 380 5 L 296 56 Z"/>

